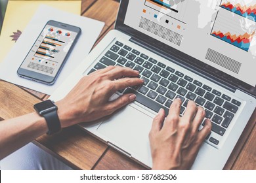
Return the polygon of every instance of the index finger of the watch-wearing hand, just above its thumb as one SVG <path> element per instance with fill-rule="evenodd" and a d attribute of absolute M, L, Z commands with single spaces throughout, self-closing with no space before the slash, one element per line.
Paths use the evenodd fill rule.
<path fill-rule="evenodd" d="M 141 78 L 121 78 L 119 80 L 114 80 L 114 88 L 112 92 L 127 88 L 129 86 L 137 86 L 144 83 L 144 80 Z"/>

